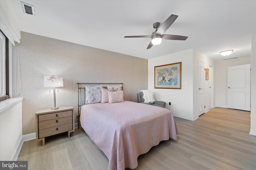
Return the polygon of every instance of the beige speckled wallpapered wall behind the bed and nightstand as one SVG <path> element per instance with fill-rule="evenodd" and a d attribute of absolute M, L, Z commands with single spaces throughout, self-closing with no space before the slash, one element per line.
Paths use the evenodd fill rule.
<path fill-rule="evenodd" d="M 77 82 L 124 83 L 124 100 L 134 102 L 136 93 L 148 89 L 146 59 L 25 32 L 12 55 L 12 97 L 24 98 L 23 135 L 35 132 L 36 110 L 53 107 L 53 90 L 44 88 L 44 75 L 64 77 L 64 87 L 56 88 L 56 106 L 73 106 L 76 114 Z"/>

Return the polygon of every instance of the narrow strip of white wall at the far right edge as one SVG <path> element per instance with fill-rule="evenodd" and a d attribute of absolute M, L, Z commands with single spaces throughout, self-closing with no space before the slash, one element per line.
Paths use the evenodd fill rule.
<path fill-rule="evenodd" d="M 250 135 L 256 136 L 256 32 L 252 35 L 251 57 L 251 128 Z"/>

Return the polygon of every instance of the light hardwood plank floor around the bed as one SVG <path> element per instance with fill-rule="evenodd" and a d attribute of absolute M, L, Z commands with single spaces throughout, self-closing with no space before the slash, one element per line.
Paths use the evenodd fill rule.
<path fill-rule="evenodd" d="M 178 140 L 162 141 L 138 157 L 136 170 L 255 170 L 256 136 L 250 112 L 216 107 L 195 121 L 175 117 Z M 24 142 L 18 160 L 29 170 L 107 170 L 108 158 L 82 128 Z M 127 168 L 128 170 L 128 168 Z"/>

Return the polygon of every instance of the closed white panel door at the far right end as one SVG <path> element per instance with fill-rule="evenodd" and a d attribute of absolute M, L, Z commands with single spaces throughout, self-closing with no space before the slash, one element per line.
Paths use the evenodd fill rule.
<path fill-rule="evenodd" d="M 228 108 L 250 111 L 251 64 L 228 67 Z"/>

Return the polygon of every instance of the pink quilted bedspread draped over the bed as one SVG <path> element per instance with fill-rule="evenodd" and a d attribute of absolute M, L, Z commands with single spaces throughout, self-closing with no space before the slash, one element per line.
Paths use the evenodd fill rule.
<path fill-rule="evenodd" d="M 177 140 L 178 130 L 170 110 L 124 101 L 86 104 L 81 126 L 108 157 L 108 170 L 134 169 L 137 158 L 160 141 Z"/>

